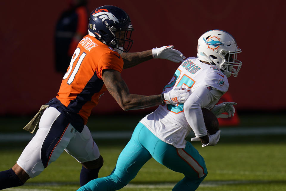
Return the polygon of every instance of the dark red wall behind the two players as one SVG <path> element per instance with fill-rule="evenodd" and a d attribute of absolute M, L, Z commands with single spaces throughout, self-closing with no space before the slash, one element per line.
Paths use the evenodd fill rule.
<path fill-rule="evenodd" d="M 89 1 L 89 12 L 106 3 L 131 17 L 134 43 L 130 52 L 173 44 L 186 57 L 196 56 L 197 40 L 212 29 L 226 30 L 237 40 L 243 66 L 229 78 L 237 110 L 284 110 L 286 1 Z M 0 115 L 34 114 L 56 96 L 53 34 L 67 1 L 1 1 Z M 178 67 L 153 59 L 123 70 L 131 93 L 161 93 Z M 93 113 L 123 112 L 106 92 Z M 139 112 L 153 110 L 145 109 Z M 131 111 L 136 113 L 138 111 Z M 129 113 L 131 113 L 129 111 Z"/>

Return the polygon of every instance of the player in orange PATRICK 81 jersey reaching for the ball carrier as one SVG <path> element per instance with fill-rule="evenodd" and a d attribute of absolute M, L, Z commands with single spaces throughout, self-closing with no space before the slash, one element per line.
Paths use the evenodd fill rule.
<path fill-rule="evenodd" d="M 114 97 L 123 110 L 136 110 L 160 104 L 184 103 L 189 90 L 178 87 L 168 93 L 144 96 L 129 93 L 121 78 L 124 68 L 152 58 L 181 62 L 184 56 L 173 46 L 128 53 L 133 41 L 128 14 L 111 5 L 95 9 L 89 19 L 88 35 L 78 44 L 56 98 L 41 107 L 39 123 L 28 130 L 37 133 L 26 146 L 17 163 L 0 172 L 0 190 L 23 185 L 39 175 L 65 150 L 83 167 L 80 185 L 97 178 L 103 158 L 86 126 L 91 109 L 104 91 Z M 32 121 L 31 121 L 32 122 Z"/>

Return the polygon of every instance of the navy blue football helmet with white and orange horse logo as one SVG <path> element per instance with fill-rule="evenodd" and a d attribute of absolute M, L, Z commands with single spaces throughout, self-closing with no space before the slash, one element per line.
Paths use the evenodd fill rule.
<path fill-rule="evenodd" d="M 105 5 L 90 14 L 88 34 L 110 47 L 128 52 L 133 44 L 132 31 L 130 17 L 119 7 Z"/>

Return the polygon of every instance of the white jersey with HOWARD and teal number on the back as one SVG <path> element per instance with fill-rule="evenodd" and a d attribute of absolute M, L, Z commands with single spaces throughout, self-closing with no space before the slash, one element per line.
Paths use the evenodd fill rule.
<path fill-rule="evenodd" d="M 199 109 L 202 107 L 212 109 L 220 97 L 228 90 L 229 83 L 227 77 L 215 65 L 205 64 L 200 62 L 198 58 L 190 57 L 178 67 L 171 81 L 164 87 L 163 93 L 169 92 L 178 86 L 191 89 L 192 93 L 187 101 L 198 98 L 202 101 Z M 200 98 L 192 95 L 195 94 L 196 89 L 202 87 L 205 88 L 203 95 L 209 94 L 211 96 Z M 192 107 L 190 104 L 187 106 Z M 164 106 L 160 105 L 140 122 L 162 141 L 172 144 L 176 148 L 185 148 L 185 138 L 191 130 L 194 130 L 196 136 L 206 135 L 201 109 L 200 113 L 196 112 L 195 114 L 201 116 L 193 117 L 192 115 L 190 117 L 185 116 L 185 113 L 184 104 L 165 104 Z M 191 128 L 190 125 L 193 127 Z M 199 130 L 195 131 L 195 128 L 200 128 L 203 133 L 199 133 Z"/>

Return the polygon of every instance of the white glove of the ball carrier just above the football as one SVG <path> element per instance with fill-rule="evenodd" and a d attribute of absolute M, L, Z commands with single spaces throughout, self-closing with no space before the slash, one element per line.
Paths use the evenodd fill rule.
<path fill-rule="evenodd" d="M 215 105 L 215 107 L 213 107 L 211 109 L 212 113 L 215 114 L 215 116 L 217 118 L 229 118 L 231 116 L 234 116 L 234 105 L 236 105 L 237 103 L 235 102 L 223 102 L 221 104 Z M 222 114 L 227 112 L 228 115 L 226 114 Z"/>

